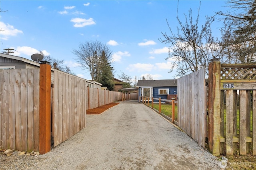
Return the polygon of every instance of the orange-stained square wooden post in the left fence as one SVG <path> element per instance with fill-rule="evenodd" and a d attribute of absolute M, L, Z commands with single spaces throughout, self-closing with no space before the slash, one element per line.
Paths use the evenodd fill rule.
<path fill-rule="evenodd" d="M 39 152 L 51 150 L 51 65 L 47 61 L 40 64 L 39 90 Z"/>

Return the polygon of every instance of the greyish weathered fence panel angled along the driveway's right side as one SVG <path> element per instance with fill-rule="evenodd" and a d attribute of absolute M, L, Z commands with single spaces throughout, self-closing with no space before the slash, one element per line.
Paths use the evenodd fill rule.
<path fill-rule="evenodd" d="M 178 126 L 205 147 L 205 70 L 178 78 Z"/>

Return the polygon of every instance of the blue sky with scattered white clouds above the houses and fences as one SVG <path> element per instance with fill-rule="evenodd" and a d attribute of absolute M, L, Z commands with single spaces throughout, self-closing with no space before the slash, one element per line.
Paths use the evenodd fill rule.
<path fill-rule="evenodd" d="M 115 78 L 121 71 L 134 79 L 150 74 L 154 80 L 173 79 L 175 72 L 168 73 L 171 60 L 168 44 L 161 43 L 161 32 L 167 32 L 168 20 L 174 32 L 178 26 L 176 0 L 1 0 L 0 47 L 15 49 L 12 55 L 30 59 L 38 51 L 56 59 L 82 78 L 91 79 L 89 72 L 82 70 L 72 53 L 79 43 L 100 41 L 107 44 L 113 57 Z M 191 8 L 194 20 L 200 1 L 181 0 L 179 17 Z M 224 10 L 226 1 L 202 0 L 200 24 L 205 16 Z M 219 36 L 221 23 L 212 25 L 215 37 Z M 175 71 L 175 70 L 174 70 Z"/>

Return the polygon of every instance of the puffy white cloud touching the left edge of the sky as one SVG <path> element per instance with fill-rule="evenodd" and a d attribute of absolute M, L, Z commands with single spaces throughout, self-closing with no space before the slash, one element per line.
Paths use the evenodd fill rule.
<path fill-rule="evenodd" d="M 3 22 L 0 22 L 0 39 L 8 40 L 10 36 L 16 36 L 19 33 L 23 33 L 23 31 L 14 28 L 14 26 L 7 23 L 7 25 Z"/>

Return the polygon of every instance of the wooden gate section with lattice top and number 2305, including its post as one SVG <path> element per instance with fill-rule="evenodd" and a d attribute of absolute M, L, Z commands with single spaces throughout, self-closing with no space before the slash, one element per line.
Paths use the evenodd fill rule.
<path fill-rule="evenodd" d="M 212 154 L 256 154 L 256 65 L 212 61 L 208 109 Z"/>

